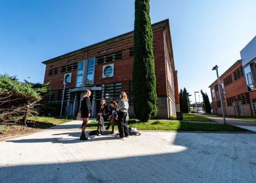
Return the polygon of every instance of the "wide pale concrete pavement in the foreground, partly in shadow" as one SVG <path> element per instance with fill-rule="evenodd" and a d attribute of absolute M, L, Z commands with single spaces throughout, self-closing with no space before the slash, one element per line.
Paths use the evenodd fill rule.
<path fill-rule="evenodd" d="M 0 142 L 0 182 L 256 183 L 256 134 L 103 131 L 80 141 L 80 126 Z"/>

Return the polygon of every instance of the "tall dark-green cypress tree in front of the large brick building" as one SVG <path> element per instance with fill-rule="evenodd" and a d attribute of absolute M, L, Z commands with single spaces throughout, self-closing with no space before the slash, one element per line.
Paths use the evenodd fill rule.
<path fill-rule="evenodd" d="M 132 86 L 134 90 L 134 113 L 141 122 L 147 122 L 157 114 L 153 33 L 149 16 L 149 0 L 135 0 Z"/>

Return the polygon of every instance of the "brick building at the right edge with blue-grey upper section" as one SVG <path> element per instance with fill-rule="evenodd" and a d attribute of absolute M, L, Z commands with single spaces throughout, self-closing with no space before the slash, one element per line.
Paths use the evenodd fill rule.
<path fill-rule="evenodd" d="M 256 37 L 220 78 L 224 112 L 233 116 L 256 116 Z M 210 86 L 214 113 L 222 114 L 218 82 Z"/>

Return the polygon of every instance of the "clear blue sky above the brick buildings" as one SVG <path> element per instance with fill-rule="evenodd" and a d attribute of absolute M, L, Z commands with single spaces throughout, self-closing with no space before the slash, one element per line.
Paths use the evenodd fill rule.
<path fill-rule="evenodd" d="M 150 8 L 151 23 L 169 18 L 179 90 L 192 102 L 194 91 L 210 96 L 212 67 L 224 73 L 256 36 L 255 0 L 151 0 Z M 43 82 L 42 61 L 133 29 L 134 0 L 0 0 L 0 74 Z"/>

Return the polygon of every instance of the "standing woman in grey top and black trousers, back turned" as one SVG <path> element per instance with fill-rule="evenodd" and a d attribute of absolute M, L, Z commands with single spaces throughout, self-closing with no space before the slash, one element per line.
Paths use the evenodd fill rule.
<path fill-rule="evenodd" d="M 123 139 L 125 137 L 129 137 L 129 131 L 126 123 L 126 116 L 129 108 L 128 98 L 125 92 L 120 93 L 120 99 L 118 105 L 116 106 L 116 110 L 118 111 L 118 130 L 119 130 L 119 138 Z"/>

